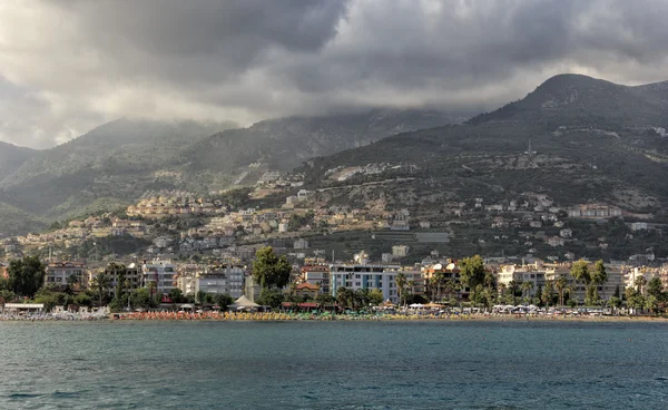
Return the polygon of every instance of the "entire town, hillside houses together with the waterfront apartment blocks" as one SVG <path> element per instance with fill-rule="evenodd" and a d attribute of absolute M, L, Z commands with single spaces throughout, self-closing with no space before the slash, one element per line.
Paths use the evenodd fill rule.
<path fill-rule="evenodd" d="M 386 168 L 394 167 L 370 164 L 360 169 L 331 169 L 328 175 L 343 182 Z M 617 206 L 561 207 L 548 195 L 522 193 L 509 201 L 480 196 L 445 202 L 439 213 L 424 214 L 410 207 L 392 208 L 382 201 L 334 204 L 327 195 L 324 189 L 305 189 L 302 175 L 279 172 L 266 172 L 252 189 L 209 196 L 149 192 L 115 213 L 65 221 L 45 233 L 3 240 L 2 274 L 8 279 L 10 261 L 37 255 L 45 262 L 46 286 L 72 296 L 88 294 L 91 306 L 96 290 L 105 294 L 97 297 L 100 305 L 119 293 L 141 289 L 150 290 L 150 299 L 164 305 L 175 301 L 220 304 L 223 295 L 255 303 L 263 286 L 254 280 L 253 265 L 257 252 L 271 246 L 291 265 L 289 280 L 275 299 L 282 301 L 336 301 L 345 289 L 374 291 L 377 301 L 394 305 L 406 300 L 451 306 L 490 305 L 492 300 L 549 304 L 560 294 L 562 305 L 579 306 L 616 300 L 619 303 L 613 304 L 620 304 L 630 297 L 625 293 L 629 289 L 642 295 L 648 292 L 639 285 L 642 281 L 659 281 L 661 291 L 668 286 L 668 261 L 657 257 L 652 248 L 606 260 L 596 297 L 587 293 L 592 292 L 589 281 L 571 274 L 574 265 L 593 264 L 608 248 L 606 236 L 583 226 L 613 226 L 626 232 L 628 241 L 662 232 L 664 226 L 647 222 L 647 215 L 628 214 Z M 257 203 L 258 198 L 265 202 Z M 478 236 L 462 238 L 475 230 Z M 494 292 L 490 289 L 484 296 L 487 302 L 481 292 L 460 280 L 461 261 L 473 254 L 462 255 L 462 243 L 466 251 L 490 250 L 481 253 L 488 282 L 494 284 Z M 355 245 L 371 248 L 361 251 Z M 102 285 L 100 274 L 106 277 Z M 550 295 L 543 294 L 546 289 Z M 73 299 L 69 302 L 76 304 Z M 127 304 L 131 305 L 129 296 Z"/>

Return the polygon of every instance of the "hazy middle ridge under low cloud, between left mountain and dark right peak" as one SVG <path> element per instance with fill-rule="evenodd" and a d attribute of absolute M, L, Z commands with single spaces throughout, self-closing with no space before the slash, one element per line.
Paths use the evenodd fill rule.
<path fill-rule="evenodd" d="M 369 145 L 399 133 L 462 123 L 465 118 L 435 110 L 375 109 L 272 119 L 216 134 L 193 145 L 185 155 L 194 170 L 232 170 L 252 163 L 287 170 L 308 158 Z"/>

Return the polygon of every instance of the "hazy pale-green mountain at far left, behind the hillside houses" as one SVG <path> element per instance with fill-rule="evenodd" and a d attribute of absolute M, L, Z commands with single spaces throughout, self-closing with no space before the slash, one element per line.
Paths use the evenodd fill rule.
<path fill-rule="evenodd" d="M 51 219 L 127 203 L 146 188 L 169 187 L 163 179 L 170 178 L 180 149 L 232 126 L 121 118 L 37 153 L 0 180 L 0 194 L 7 204 Z"/>

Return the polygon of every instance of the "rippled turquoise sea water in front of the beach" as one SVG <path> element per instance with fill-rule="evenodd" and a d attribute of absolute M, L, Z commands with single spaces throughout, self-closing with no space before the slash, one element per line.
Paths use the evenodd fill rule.
<path fill-rule="evenodd" d="M 0 409 L 667 409 L 668 325 L 0 323 Z"/>

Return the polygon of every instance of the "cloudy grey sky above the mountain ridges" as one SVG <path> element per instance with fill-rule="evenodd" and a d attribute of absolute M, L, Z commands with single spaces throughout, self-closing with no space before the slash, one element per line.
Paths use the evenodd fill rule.
<path fill-rule="evenodd" d="M 549 77 L 668 80 L 666 0 L 2 0 L 0 140 L 119 117 L 491 110 Z"/>

